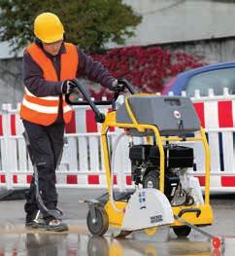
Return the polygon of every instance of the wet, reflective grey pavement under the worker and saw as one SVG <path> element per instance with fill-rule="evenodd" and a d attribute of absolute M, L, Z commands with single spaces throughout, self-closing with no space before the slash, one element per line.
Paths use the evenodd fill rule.
<path fill-rule="evenodd" d="M 78 201 L 92 199 L 102 193 L 97 190 L 62 190 L 59 204 L 70 230 L 61 234 L 25 229 L 24 201 L 0 201 L 0 256 L 235 255 L 234 195 L 212 199 L 215 223 L 203 230 L 225 238 L 224 246 L 215 250 L 211 240 L 196 231 L 191 232 L 188 238 L 176 238 L 172 230 L 162 230 L 153 236 L 136 232 L 125 239 L 115 238 L 113 235 L 116 231 L 109 230 L 104 238 L 91 237 L 85 225 L 87 206 Z"/>

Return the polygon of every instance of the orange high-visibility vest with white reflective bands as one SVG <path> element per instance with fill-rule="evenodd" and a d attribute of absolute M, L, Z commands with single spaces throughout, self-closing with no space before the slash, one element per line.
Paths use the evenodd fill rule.
<path fill-rule="evenodd" d="M 79 57 L 74 45 L 64 43 L 66 53 L 61 55 L 60 80 L 76 78 Z M 35 43 L 27 47 L 27 52 L 43 70 L 44 79 L 48 81 L 59 81 L 55 68 L 50 58 Z M 65 102 L 63 96 L 63 119 L 68 123 L 72 117 L 72 109 Z M 25 87 L 25 94 L 20 106 L 20 118 L 31 123 L 50 126 L 58 115 L 59 96 L 38 97 L 28 91 Z"/>

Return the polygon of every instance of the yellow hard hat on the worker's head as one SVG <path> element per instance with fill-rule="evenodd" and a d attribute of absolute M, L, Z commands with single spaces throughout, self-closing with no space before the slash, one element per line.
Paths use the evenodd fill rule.
<path fill-rule="evenodd" d="M 43 43 L 53 43 L 63 39 L 64 27 L 56 15 L 43 13 L 34 20 L 34 34 Z"/>

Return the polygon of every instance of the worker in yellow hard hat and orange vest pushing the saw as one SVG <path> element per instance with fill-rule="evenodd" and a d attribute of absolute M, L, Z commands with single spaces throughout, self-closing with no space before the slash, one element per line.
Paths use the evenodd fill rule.
<path fill-rule="evenodd" d="M 48 209 L 57 209 L 55 168 L 63 148 L 64 127 L 72 115 L 64 94 L 73 90 L 74 79 L 81 77 L 110 90 L 118 85 L 100 62 L 64 41 L 64 27 L 56 15 L 37 16 L 34 35 L 35 42 L 25 49 L 22 58 L 25 94 L 19 114 L 37 166 L 40 195 Z M 24 205 L 25 225 L 56 232 L 68 230 L 61 218 L 50 214 L 43 215 L 43 222 L 37 219 L 40 205 L 35 186 L 33 177 Z"/>

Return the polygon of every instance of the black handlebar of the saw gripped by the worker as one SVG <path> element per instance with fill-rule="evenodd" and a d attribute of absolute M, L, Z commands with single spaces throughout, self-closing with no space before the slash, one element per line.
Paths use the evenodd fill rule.
<path fill-rule="evenodd" d="M 127 82 L 124 79 L 118 79 L 117 84 L 122 86 L 122 89 L 120 91 L 115 91 L 114 96 L 111 100 L 100 100 L 100 101 L 92 101 L 90 98 L 90 95 L 88 94 L 87 91 L 84 90 L 84 87 L 81 85 L 81 83 L 76 79 L 74 82 L 77 84 L 78 88 L 75 89 L 75 91 L 79 90 L 79 92 L 82 93 L 84 96 L 85 101 L 72 101 L 71 100 L 71 95 L 73 94 L 74 91 L 71 91 L 69 93 L 65 94 L 65 101 L 70 104 L 70 105 L 89 105 L 91 109 L 95 113 L 95 121 L 97 123 L 104 123 L 105 121 L 105 115 L 99 111 L 99 109 L 96 107 L 96 105 L 114 105 L 117 97 L 120 93 L 120 91 L 123 91 L 124 89 L 127 89 L 131 94 L 136 93 L 132 85 Z M 121 87 L 120 87 L 121 88 Z"/>

